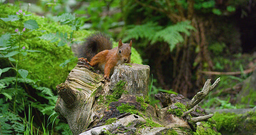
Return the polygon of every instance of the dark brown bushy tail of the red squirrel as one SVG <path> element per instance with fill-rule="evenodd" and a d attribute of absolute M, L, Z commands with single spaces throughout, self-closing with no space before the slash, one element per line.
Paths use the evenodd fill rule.
<path fill-rule="evenodd" d="M 87 58 L 89 61 L 99 52 L 112 49 L 110 37 L 103 33 L 92 34 L 79 48 L 79 56 Z"/>

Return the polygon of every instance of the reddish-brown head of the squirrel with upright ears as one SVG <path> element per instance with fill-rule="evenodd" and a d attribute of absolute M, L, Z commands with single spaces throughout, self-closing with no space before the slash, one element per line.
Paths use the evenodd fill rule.
<path fill-rule="evenodd" d="M 122 40 L 119 39 L 118 42 L 118 56 L 119 58 L 121 58 L 121 60 L 124 63 L 129 63 L 131 60 L 131 48 L 132 48 L 132 40 L 130 41 L 130 43 L 122 43 Z"/>

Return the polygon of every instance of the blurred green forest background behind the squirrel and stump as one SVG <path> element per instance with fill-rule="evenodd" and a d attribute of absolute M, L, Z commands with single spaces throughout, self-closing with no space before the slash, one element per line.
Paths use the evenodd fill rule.
<path fill-rule="evenodd" d="M 256 105 L 255 1 L 0 3 L 0 134 L 72 134 L 54 111 L 55 86 L 76 65 L 77 47 L 96 31 L 113 41 L 133 40 L 133 62 L 151 67 L 153 105 L 161 107 L 157 93 L 192 98 L 207 78 L 218 77 L 221 82 L 204 108 Z M 255 113 L 250 115 L 255 127 Z M 218 131 L 243 130 L 236 121 L 223 121 L 238 115 L 215 116 Z"/>

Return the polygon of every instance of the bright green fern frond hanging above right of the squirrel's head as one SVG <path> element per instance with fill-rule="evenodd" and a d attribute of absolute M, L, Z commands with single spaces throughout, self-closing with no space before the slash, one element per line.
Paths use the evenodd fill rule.
<path fill-rule="evenodd" d="M 184 41 L 181 33 L 185 33 L 189 36 L 189 31 L 195 30 L 195 28 L 190 25 L 190 21 L 181 21 L 164 29 L 154 22 L 147 22 L 144 25 L 132 25 L 129 26 L 129 28 L 130 29 L 126 30 L 126 37 L 123 39 L 124 41 L 131 38 L 135 38 L 136 40 L 139 38 L 146 38 L 150 40 L 151 43 L 165 41 L 169 44 L 170 51 L 174 50 L 177 43 Z"/>

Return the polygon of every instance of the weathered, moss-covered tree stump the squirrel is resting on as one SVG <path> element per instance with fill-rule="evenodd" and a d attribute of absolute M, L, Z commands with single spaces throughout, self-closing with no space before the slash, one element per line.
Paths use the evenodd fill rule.
<path fill-rule="evenodd" d="M 69 124 L 74 135 L 138 132 L 190 134 L 191 130 L 196 130 L 197 121 L 212 117 L 202 115 L 190 118 L 188 114 L 195 116 L 196 102 L 190 103 L 184 98 L 188 102 L 187 108 L 192 108 L 188 110 L 185 108 L 187 102 L 179 101 L 180 106 L 176 104 L 178 100 L 170 99 L 172 95 L 158 95 L 158 98 L 168 102 L 163 103 L 166 106 L 161 109 L 149 105 L 149 74 L 148 65 L 123 64 L 115 68 L 110 82 L 107 82 L 80 58 L 65 83 L 57 85 L 59 96 L 55 111 L 59 119 Z M 208 85 L 210 90 L 215 86 Z M 179 110 L 181 114 L 178 115 Z"/>

